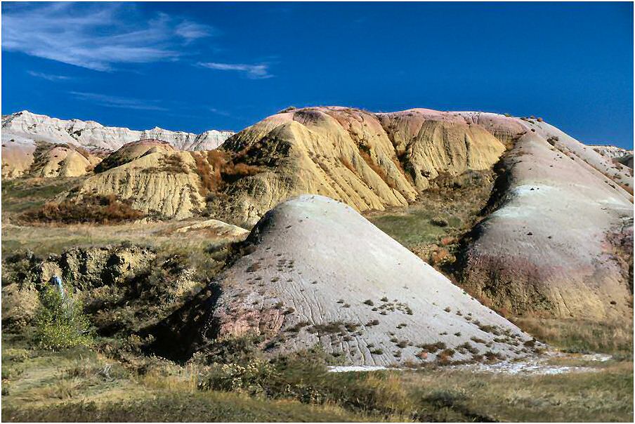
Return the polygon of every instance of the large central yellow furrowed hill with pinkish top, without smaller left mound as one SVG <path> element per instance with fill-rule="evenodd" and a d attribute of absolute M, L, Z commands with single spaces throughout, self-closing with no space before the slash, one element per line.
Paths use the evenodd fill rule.
<path fill-rule="evenodd" d="M 231 213 L 254 223 L 280 201 L 304 193 L 358 211 L 405 206 L 440 173 L 491 168 L 505 150 L 479 124 L 426 112 L 308 107 L 246 128 L 221 149 L 244 154 L 268 170 L 233 185 Z"/>

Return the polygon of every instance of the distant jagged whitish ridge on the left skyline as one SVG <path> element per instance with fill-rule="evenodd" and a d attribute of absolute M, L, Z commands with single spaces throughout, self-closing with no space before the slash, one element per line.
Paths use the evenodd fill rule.
<path fill-rule="evenodd" d="M 90 152 L 112 152 L 126 143 L 156 138 L 170 143 L 178 150 L 211 150 L 232 134 L 231 131 L 216 130 L 193 134 L 158 127 L 133 131 L 129 128 L 103 126 L 95 121 L 65 121 L 25 110 L 2 117 L 2 177 L 15 178 L 27 173 L 33 162 L 37 143 L 41 142 L 75 145 Z"/>

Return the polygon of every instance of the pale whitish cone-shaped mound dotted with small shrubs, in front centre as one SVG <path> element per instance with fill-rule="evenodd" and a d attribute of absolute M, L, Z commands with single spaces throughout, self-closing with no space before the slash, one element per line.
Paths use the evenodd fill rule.
<path fill-rule="evenodd" d="M 532 354 L 530 336 L 351 206 L 287 200 L 247 241 L 251 253 L 220 277 L 211 320 L 220 337 L 258 333 L 273 352 L 322 345 L 355 365 Z"/>

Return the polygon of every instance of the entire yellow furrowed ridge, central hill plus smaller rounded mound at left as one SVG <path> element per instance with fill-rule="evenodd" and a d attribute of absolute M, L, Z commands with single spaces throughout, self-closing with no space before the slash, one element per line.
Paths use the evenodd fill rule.
<path fill-rule="evenodd" d="M 128 143 L 96 167 L 79 194 L 115 194 L 162 216 L 206 211 L 248 225 L 299 194 L 381 211 L 406 206 L 442 173 L 498 161 L 504 144 L 472 119 L 429 110 L 291 110 L 244 129 L 213 153 L 178 152 L 159 140 Z"/>

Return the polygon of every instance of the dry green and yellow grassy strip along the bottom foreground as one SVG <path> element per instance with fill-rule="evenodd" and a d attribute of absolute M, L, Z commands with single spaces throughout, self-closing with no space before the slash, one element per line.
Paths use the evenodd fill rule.
<path fill-rule="evenodd" d="M 584 371 L 509 375 L 434 367 L 327 373 L 301 360 L 264 391 L 203 389 L 194 364 L 121 362 L 85 347 L 52 352 L 3 335 L 4 421 L 630 421 L 631 358 L 554 359 Z M 140 365 L 141 364 L 141 365 Z M 274 392 L 268 392 L 274 390 Z"/>

